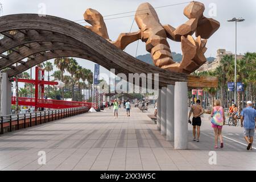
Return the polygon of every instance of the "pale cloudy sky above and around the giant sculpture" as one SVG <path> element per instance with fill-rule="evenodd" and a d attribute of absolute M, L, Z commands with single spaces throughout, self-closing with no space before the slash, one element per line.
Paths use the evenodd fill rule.
<path fill-rule="evenodd" d="M 61 18 L 69 20 L 80 20 L 78 23 L 86 25 L 83 19 L 84 11 L 88 8 L 98 10 L 102 15 L 112 15 L 117 13 L 123 13 L 127 11 L 135 11 L 139 4 L 143 2 L 149 2 L 153 7 L 174 5 L 176 3 L 182 3 L 187 1 L 178 0 L 158 0 L 158 1 L 141 1 L 141 0 L 0 0 L 3 6 L 2 15 L 19 14 L 19 13 L 39 13 L 40 8 L 46 6 L 46 14 L 60 16 Z M 227 19 L 233 17 L 244 18 L 245 22 L 238 23 L 237 33 L 237 53 L 256 52 L 255 40 L 256 40 L 256 1 L 255 0 L 201 0 L 205 5 L 204 15 L 207 17 L 212 16 L 218 20 L 221 24 L 219 30 L 208 40 L 207 52 L 205 55 L 216 56 L 218 48 L 225 48 L 227 51 L 234 52 L 234 35 L 235 24 L 234 22 L 227 22 Z M 177 27 L 180 24 L 186 22 L 188 19 L 183 15 L 183 9 L 187 4 L 167 6 L 156 9 L 160 22 L 162 24 L 170 24 L 173 27 Z M 116 18 L 119 16 L 129 16 L 126 18 L 117 18 L 105 20 L 110 39 L 117 39 L 119 33 L 129 32 L 131 24 L 133 22 L 134 13 L 108 16 L 106 18 Z M 131 31 L 137 31 L 137 24 L 134 23 Z M 180 43 L 168 41 L 171 47 L 171 51 L 180 52 Z M 130 44 L 126 48 L 126 52 L 132 56 L 135 56 L 137 48 L 137 42 Z M 139 42 L 137 55 L 144 55 L 145 44 Z M 79 59 L 78 59 L 79 60 Z M 90 61 L 79 60 L 79 64 L 86 68 L 93 68 L 93 63 Z M 92 69 L 93 70 L 93 69 Z M 104 69 L 101 69 L 104 71 Z M 105 71 L 104 71 L 105 72 Z"/>

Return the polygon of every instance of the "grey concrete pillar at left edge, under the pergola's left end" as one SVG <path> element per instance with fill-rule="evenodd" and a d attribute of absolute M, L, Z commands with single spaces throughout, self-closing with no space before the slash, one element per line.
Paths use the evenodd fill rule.
<path fill-rule="evenodd" d="M 11 82 L 7 73 L 1 73 L 1 115 L 11 114 Z"/>

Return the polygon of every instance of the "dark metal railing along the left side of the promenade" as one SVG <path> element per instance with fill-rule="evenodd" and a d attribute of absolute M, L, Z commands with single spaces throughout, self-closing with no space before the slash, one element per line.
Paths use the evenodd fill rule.
<path fill-rule="evenodd" d="M 72 117 L 74 115 L 87 113 L 89 108 L 86 106 L 82 107 L 71 107 L 65 109 L 54 109 L 54 110 L 43 110 L 36 111 L 31 113 L 18 113 L 18 114 L 9 114 L 1 115 L 1 132 L 4 134 L 6 129 L 8 132 L 13 130 L 19 130 L 21 128 L 25 129 L 26 127 L 36 126 L 42 123 L 55 121 L 57 119 L 63 119 L 67 117 Z M 8 126 L 6 123 L 9 123 Z"/>

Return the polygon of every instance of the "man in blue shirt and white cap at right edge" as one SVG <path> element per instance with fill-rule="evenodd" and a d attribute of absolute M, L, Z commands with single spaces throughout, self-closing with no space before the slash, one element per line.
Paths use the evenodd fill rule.
<path fill-rule="evenodd" d="M 246 108 L 241 112 L 241 127 L 243 127 L 243 137 L 245 138 L 248 146 L 247 150 L 253 150 L 253 137 L 256 122 L 256 110 L 253 109 L 251 101 L 246 102 Z"/>

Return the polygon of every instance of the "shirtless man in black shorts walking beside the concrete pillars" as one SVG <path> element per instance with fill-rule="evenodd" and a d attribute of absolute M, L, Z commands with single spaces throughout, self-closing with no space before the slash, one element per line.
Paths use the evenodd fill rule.
<path fill-rule="evenodd" d="M 193 126 L 193 141 L 199 142 L 200 137 L 200 126 L 201 126 L 201 115 L 204 114 L 204 109 L 200 105 L 200 100 L 196 101 L 196 105 L 191 106 L 191 110 L 188 115 L 188 123 L 191 123 L 190 117 L 193 113 L 192 118 L 192 126 Z M 197 138 L 196 138 L 196 130 L 197 130 Z"/>

